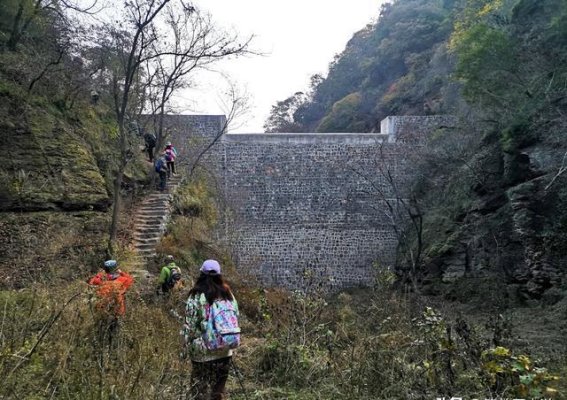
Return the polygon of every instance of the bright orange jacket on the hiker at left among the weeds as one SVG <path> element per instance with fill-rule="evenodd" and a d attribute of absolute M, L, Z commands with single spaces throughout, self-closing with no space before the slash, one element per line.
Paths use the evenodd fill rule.
<path fill-rule="evenodd" d="M 99 286 L 96 291 L 99 298 L 97 308 L 115 316 L 124 315 L 126 312 L 124 296 L 132 283 L 134 283 L 132 275 L 122 271 L 112 274 L 99 272 L 89 279 L 89 285 Z"/>

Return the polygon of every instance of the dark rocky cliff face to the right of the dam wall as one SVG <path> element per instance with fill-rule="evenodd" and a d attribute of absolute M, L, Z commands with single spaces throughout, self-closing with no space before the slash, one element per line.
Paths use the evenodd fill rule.
<path fill-rule="evenodd" d="M 477 152 L 469 160 L 475 179 L 457 170 L 445 177 L 447 188 L 435 192 L 425 238 L 425 291 L 500 304 L 560 300 L 565 295 L 567 189 L 562 175 L 550 182 L 562 150 L 545 143 L 514 154 L 502 152 L 497 143 L 481 147 L 483 155 Z M 448 200 L 439 202 L 439 196 Z M 459 211 L 451 215 L 452 208 Z M 441 210 L 450 223 L 442 220 Z"/>

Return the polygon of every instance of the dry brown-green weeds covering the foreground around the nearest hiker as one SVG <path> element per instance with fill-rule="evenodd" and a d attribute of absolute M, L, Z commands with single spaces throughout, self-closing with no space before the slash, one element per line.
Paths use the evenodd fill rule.
<path fill-rule="evenodd" d="M 565 398 L 528 355 L 395 292 L 235 287 L 232 399 Z M 113 325 L 92 300 L 80 283 L 0 293 L 0 398 L 186 399 L 176 302 L 132 291 Z"/>

